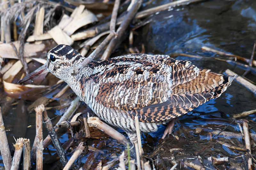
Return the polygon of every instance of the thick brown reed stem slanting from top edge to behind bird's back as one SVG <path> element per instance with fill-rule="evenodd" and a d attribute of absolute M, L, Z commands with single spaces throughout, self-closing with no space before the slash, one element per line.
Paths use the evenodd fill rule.
<path fill-rule="evenodd" d="M 124 18 L 124 21 L 122 22 L 122 24 L 119 26 L 119 28 L 116 31 L 117 37 L 110 41 L 107 49 L 104 51 L 102 57 L 100 58 L 101 60 L 105 60 L 105 59 L 109 58 L 109 56 L 116 49 L 117 43 L 120 41 L 121 37 L 123 37 L 126 28 L 129 26 L 131 20 L 134 18 L 135 14 L 139 10 L 141 4 L 142 4 L 142 0 L 135 1 L 131 10 L 127 13 L 127 15 Z"/>

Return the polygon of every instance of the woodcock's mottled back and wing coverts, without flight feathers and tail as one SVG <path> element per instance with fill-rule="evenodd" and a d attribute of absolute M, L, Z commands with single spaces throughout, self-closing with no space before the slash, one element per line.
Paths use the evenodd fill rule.
<path fill-rule="evenodd" d="M 174 101 L 175 97 L 170 99 L 172 88 L 199 73 L 190 62 L 166 55 L 124 55 L 94 64 L 98 71 L 92 79 L 99 85 L 95 99 L 105 107 L 124 111 Z"/>

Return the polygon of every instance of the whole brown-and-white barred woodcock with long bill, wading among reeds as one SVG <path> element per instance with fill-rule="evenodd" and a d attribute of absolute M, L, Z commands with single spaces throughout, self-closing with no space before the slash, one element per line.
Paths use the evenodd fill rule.
<path fill-rule="evenodd" d="M 47 62 L 19 83 L 46 72 L 65 81 L 95 114 L 123 129 L 137 142 L 134 117 L 140 131 L 155 132 L 223 93 L 236 76 L 223 76 L 198 69 L 190 61 L 168 55 L 128 54 L 89 63 L 79 74 L 70 72 L 84 57 L 68 45 L 58 45 L 47 54 Z M 171 122 L 171 123 L 170 123 Z M 164 135 L 164 136 L 165 136 Z"/>

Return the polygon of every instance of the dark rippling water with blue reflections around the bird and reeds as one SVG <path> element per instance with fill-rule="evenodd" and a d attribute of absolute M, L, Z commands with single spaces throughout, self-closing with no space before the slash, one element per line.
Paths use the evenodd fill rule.
<path fill-rule="evenodd" d="M 160 4 L 169 3 L 168 0 L 155 0 L 152 4 L 143 7 L 143 9 L 153 7 Z M 144 5 L 145 6 L 145 5 Z M 145 20 L 150 21 L 145 26 L 142 26 L 135 31 L 138 33 L 134 38 L 134 46 L 141 49 L 141 44 L 145 45 L 147 54 L 164 54 L 172 55 L 177 53 L 186 53 L 190 55 L 203 56 L 202 59 L 178 56 L 180 60 L 190 60 L 194 65 L 200 69 L 211 69 L 213 72 L 223 74 L 226 69 L 230 69 L 239 75 L 244 73 L 244 70 L 232 66 L 224 61 L 215 60 L 215 57 L 220 57 L 212 52 L 205 52 L 201 50 L 202 46 L 223 50 L 230 52 L 234 55 L 240 55 L 242 57 L 250 59 L 253 43 L 256 40 L 256 2 L 255 0 L 212 0 L 203 1 L 197 4 L 191 4 L 188 6 L 172 8 L 168 11 L 162 11 L 158 14 L 152 15 Z M 126 39 L 127 40 L 127 39 Z M 128 44 L 126 41 L 124 44 Z M 123 46 L 116 50 L 114 55 L 122 53 Z M 241 61 L 240 61 L 241 62 Z M 243 63 L 243 62 L 241 62 Z M 256 80 L 256 77 L 251 73 L 247 75 L 252 81 Z M 3 89 L 1 90 L 3 92 Z M 48 95 L 51 97 L 51 95 Z M 70 103 L 74 95 L 72 90 L 68 90 L 61 100 L 53 102 L 52 106 L 61 105 L 62 103 Z M 4 102 L 4 95 L 1 95 L 1 100 Z M 68 101 L 67 101 L 68 100 Z M 19 101 L 19 100 L 17 100 Z M 24 106 L 28 107 L 31 102 L 23 101 Z M 21 105 L 21 104 L 20 104 Z M 22 106 L 23 106 L 22 105 Z M 232 85 L 228 87 L 219 98 L 210 100 L 205 104 L 197 107 L 188 114 L 180 117 L 180 122 L 184 127 L 175 125 L 175 130 L 180 131 L 180 138 L 184 138 L 181 142 L 178 142 L 172 135 L 167 139 L 171 141 L 167 142 L 167 146 L 180 147 L 187 152 L 195 152 L 207 144 L 203 144 L 209 140 L 206 133 L 195 134 L 191 130 L 190 133 L 186 133 L 186 129 L 200 128 L 215 128 L 223 129 L 233 119 L 232 116 L 244 111 L 250 111 L 256 109 L 256 96 L 248 91 L 244 86 L 240 85 L 236 81 L 232 82 Z M 65 108 L 61 110 L 50 109 L 47 111 L 50 118 L 54 118 L 56 115 L 61 115 L 65 112 Z M 17 139 L 19 134 L 13 132 L 13 126 L 17 123 L 17 114 L 20 113 L 19 105 L 10 107 L 9 114 L 4 119 L 4 125 L 7 130 L 7 138 L 10 144 L 15 143 L 13 136 Z M 57 116 L 52 120 L 53 123 L 57 123 L 60 116 Z M 256 132 L 256 114 L 244 117 L 244 119 L 250 121 L 250 132 Z M 25 138 L 31 140 L 33 144 L 36 128 L 35 128 L 35 112 L 28 114 L 28 128 L 24 133 Z M 144 152 L 151 153 L 152 149 L 163 136 L 166 125 L 160 125 L 159 130 L 155 133 L 149 133 L 153 137 L 153 142 L 148 142 L 149 135 L 142 134 L 143 143 L 145 145 Z M 228 127 L 228 131 L 239 132 L 239 127 L 236 123 L 233 123 Z M 118 130 L 122 131 L 122 130 Z M 48 135 L 44 128 L 44 137 Z M 60 137 L 61 143 L 68 140 L 69 132 L 63 132 Z M 221 137 L 220 137 L 221 138 Z M 221 138 L 222 139 L 222 138 Z M 224 140 L 224 139 L 223 139 Z M 182 142 L 186 141 L 186 142 Z M 234 141 L 243 142 L 242 138 L 237 138 Z M 108 143 L 111 143 L 111 139 Z M 172 143 L 170 143 L 172 142 Z M 194 142 L 194 143 L 193 143 Z M 196 144 L 196 143 L 197 144 Z M 235 142 L 235 143 L 236 143 Z M 148 144 L 147 144 L 148 143 Z M 150 144 L 149 144 L 150 143 Z M 201 143 L 201 145 L 200 145 Z M 168 145 L 169 144 L 169 145 Z M 124 150 L 122 146 L 109 145 L 108 147 L 116 147 L 116 150 Z M 50 145 L 52 147 L 52 145 Z M 227 147 L 218 146 L 213 149 L 204 152 L 201 157 L 205 156 L 205 159 L 209 156 L 230 156 L 235 157 L 237 152 L 233 152 Z M 119 148 L 119 149 L 118 149 Z M 172 147 L 171 147 L 172 148 Z M 51 154 L 55 154 L 55 149 L 49 148 Z M 107 150 L 107 149 L 106 149 Z M 165 153 L 165 152 L 163 152 Z M 120 152 L 118 152 L 120 154 Z M 162 154 L 162 158 L 168 157 Z M 111 160 L 109 156 L 105 156 Z M 49 159 L 49 152 L 44 151 L 44 159 Z M 68 157 L 69 159 L 70 157 Z M 104 156 L 101 156 L 103 159 Z M 1 157 L 0 157 L 1 159 Z M 176 158 L 176 160 L 178 160 Z M 3 166 L 0 160 L 0 169 Z M 82 158 L 82 163 L 85 162 L 85 158 Z M 117 167 L 117 166 L 115 166 Z M 166 165 L 166 169 L 169 166 Z"/>

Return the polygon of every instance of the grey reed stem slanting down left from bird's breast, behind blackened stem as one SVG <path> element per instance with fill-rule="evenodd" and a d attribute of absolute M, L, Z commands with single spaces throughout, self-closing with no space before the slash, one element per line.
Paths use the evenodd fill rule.
<path fill-rule="evenodd" d="M 59 131 L 61 129 L 57 126 L 61 122 L 69 120 L 71 118 L 71 116 L 74 115 L 74 113 L 76 112 L 76 109 L 80 105 L 79 100 L 80 100 L 79 97 L 76 97 L 76 99 L 71 102 L 70 106 L 68 107 L 68 110 L 62 115 L 62 117 L 60 118 L 60 120 L 58 121 L 56 126 L 54 126 L 56 133 L 59 133 Z M 52 141 L 51 137 L 50 137 L 50 135 L 48 135 L 43 141 L 44 149 L 47 148 L 47 146 L 51 143 L 51 141 Z"/>

